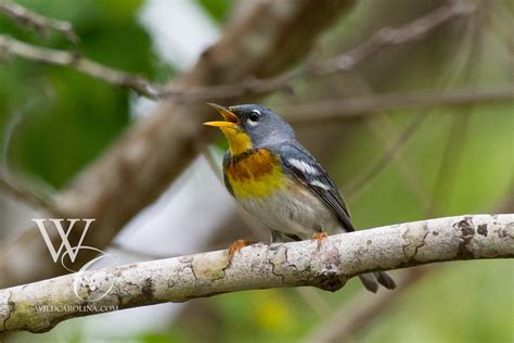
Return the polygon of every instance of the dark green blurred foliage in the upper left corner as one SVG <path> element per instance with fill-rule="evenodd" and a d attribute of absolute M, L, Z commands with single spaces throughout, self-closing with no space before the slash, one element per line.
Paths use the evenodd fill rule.
<path fill-rule="evenodd" d="M 39 13 L 73 22 L 80 43 L 50 31 L 41 38 L 1 16 L 2 33 L 55 49 L 70 49 L 130 72 L 155 76 L 149 35 L 137 22 L 142 1 L 22 1 Z M 127 53 L 130 52 L 130 53 Z M 94 158 L 130 120 L 129 93 L 72 69 L 13 59 L 0 69 L 2 132 L 16 128 L 4 163 L 61 188 Z M 11 124 L 13 125 L 13 124 Z"/>

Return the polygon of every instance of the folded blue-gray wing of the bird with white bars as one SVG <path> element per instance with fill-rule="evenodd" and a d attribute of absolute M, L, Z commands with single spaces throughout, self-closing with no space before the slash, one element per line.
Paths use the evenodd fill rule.
<path fill-rule="evenodd" d="M 281 144 L 275 150 L 286 169 L 333 211 L 343 228 L 355 231 L 348 206 L 321 164 L 299 143 Z"/>

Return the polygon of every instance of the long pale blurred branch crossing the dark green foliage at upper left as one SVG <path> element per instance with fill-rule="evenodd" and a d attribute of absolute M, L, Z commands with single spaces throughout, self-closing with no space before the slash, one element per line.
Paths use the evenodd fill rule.
<path fill-rule="evenodd" d="M 33 46 L 12 37 L 0 35 L 0 54 L 10 54 L 31 61 L 73 67 L 91 77 L 108 84 L 127 87 L 141 96 L 155 98 L 156 90 L 141 76 L 114 69 L 98 62 L 82 58 L 79 53 L 41 48 Z"/>

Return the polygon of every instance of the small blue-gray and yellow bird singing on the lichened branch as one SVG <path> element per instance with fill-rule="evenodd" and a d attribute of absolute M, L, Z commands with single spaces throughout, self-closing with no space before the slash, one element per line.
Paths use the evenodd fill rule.
<path fill-rule="evenodd" d="M 356 230 L 334 181 L 279 114 L 258 104 L 208 104 L 223 120 L 204 125 L 221 129 L 229 142 L 222 163 L 224 186 L 250 216 L 270 230 L 272 242 L 321 242 L 327 234 Z M 232 243 L 230 258 L 250 243 Z M 396 288 L 385 271 L 359 278 L 374 293 L 378 284 Z"/>

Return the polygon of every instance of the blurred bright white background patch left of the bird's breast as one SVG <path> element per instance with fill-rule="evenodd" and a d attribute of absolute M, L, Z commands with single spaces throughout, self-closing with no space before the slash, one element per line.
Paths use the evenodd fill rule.
<path fill-rule="evenodd" d="M 223 183 L 200 156 L 159 200 L 130 220 L 116 241 L 130 250 L 165 256 L 200 252 L 216 224 L 228 219 L 234 206 Z"/>

